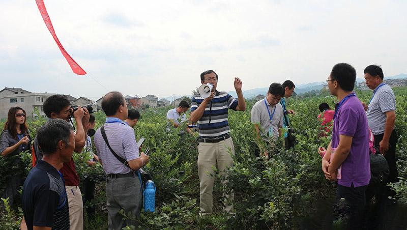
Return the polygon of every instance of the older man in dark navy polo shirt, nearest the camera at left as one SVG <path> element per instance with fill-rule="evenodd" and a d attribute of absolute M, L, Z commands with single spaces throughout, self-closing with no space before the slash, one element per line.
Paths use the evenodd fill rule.
<path fill-rule="evenodd" d="M 51 119 L 37 132 L 43 151 L 22 189 L 22 209 L 27 229 L 69 229 L 68 196 L 60 172 L 75 149 L 73 127 L 62 119 Z"/>

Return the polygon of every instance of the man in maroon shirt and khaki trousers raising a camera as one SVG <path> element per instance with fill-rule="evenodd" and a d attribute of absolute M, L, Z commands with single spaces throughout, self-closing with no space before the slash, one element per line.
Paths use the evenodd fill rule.
<path fill-rule="evenodd" d="M 89 112 L 87 108 L 71 107 L 71 103 L 64 95 L 52 95 L 44 102 L 44 112 L 50 119 L 63 119 L 71 121 L 71 117 L 76 122 L 75 153 L 81 153 L 86 143 L 86 132 L 89 126 Z M 38 145 L 38 138 L 34 139 L 34 156 L 37 158 L 34 165 L 43 157 L 41 146 Z M 73 158 L 65 162 L 60 172 L 64 176 L 65 189 L 68 195 L 69 220 L 71 229 L 83 229 L 83 203 L 82 194 L 79 189 L 79 176 L 76 172 Z"/>

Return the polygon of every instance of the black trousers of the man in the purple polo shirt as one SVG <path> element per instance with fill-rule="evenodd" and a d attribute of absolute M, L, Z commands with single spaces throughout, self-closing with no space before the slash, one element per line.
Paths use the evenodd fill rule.
<path fill-rule="evenodd" d="M 345 187 L 338 184 L 336 188 L 336 199 L 345 198 L 346 204 L 350 207 L 350 219 L 347 222 L 347 229 L 362 229 L 365 210 L 365 192 L 367 185 L 360 187 Z"/>

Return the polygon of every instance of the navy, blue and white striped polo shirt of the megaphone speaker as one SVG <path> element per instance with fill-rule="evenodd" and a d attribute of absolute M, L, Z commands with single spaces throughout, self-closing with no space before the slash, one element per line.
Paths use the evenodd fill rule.
<path fill-rule="evenodd" d="M 194 95 L 191 101 L 191 112 L 195 111 L 204 98 Z M 229 134 L 229 123 L 227 122 L 228 109 L 236 110 L 238 100 L 226 92 L 215 91 L 215 97 L 207 104 L 202 117 L 198 121 L 200 138 L 220 138 Z"/>

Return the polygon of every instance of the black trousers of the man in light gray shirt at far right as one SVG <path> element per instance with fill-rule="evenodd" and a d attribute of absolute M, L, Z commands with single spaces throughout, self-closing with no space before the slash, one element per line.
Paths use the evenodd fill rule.
<path fill-rule="evenodd" d="M 374 146 L 379 149 L 379 143 L 383 140 L 383 134 L 374 135 Z M 390 174 L 387 182 L 398 182 L 398 172 L 396 166 L 396 145 L 397 145 L 397 133 L 396 130 L 393 130 L 389 139 L 389 150 L 385 153 L 385 158 L 389 164 Z M 390 187 L 387 187 L 387 195 L 394 196 L 395 193 Z"/>

